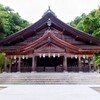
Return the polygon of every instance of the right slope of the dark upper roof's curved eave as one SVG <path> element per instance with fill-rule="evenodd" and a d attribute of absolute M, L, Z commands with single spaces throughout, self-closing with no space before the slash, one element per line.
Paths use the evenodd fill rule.
<path fill-rule="evenodd" d="M 65 24 L 64 22 L 62 22 L 61 20 L 59 20 L 56 17 L 52 17 L 51 19 L 53 22 L 55 22 L 58 26 L 62 27 L 63 30 L 69 31 L 71 34 L 78 36 L 82 39 L 85 39 L 87 41 L 92 41 L 93 43 L 100 45 L 100 39 L 99 38 L 95 38 L 91 35 L 89 35 L 88 33 L 82 32 L 78 29 L 75 29 L 72 26 L 69 26 L 67 24 Z"/>

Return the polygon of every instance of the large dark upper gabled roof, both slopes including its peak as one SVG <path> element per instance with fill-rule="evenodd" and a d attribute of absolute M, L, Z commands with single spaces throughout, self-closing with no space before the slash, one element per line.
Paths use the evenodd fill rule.
<path fill-rule="evenodd" d="M 49 23 L 50 22 L 50 23 Z M 41 28 L 45 28 L 48 27 L 48 24 L 53 24 L 55 25 L 55 27 L 61 31 L 66 31 L 69 32 L 70 34 L 74 35 L 75 37 L 78 37 L 82 40 L 88 41 L 88 42 L 92 42 L 96 45 L 100 45 L 100 39 L 95 38 L 87 33 L 84 33 L 82 31 L 79 31 L 67 24 L 65 24 L 64 22 L 62 22 L 61 20 L 59 20 L 56 15 L 49 9 L 44 15 L 43 17 L 37 21 L 36 23 L 26 27 L 25 29 L 12 34 L 4 39 L 2 39 L 0 41 L 0 45 L 6 45 L 6 44 L 12 44 L 12 43 L 16 43 L 18 41 L 21 41 L 23 38 L 28 38 L 30 36 L 34 36 L 36 35 L 36 32 L 41 29 Z"/>

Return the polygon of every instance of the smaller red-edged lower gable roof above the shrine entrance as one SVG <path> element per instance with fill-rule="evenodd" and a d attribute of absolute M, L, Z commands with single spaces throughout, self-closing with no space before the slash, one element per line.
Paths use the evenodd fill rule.
<path fill-rule="evenodd" d="M 40 37 L 39 39 L 37 39 L 36 41 L 34 41 L 34 42 L 32 42 L 32 43 L 30 43 L 30 44 L 28 44 L 28 45 L 26 45 L 26 46 L 23 46 L 22 48 L 19 48 L 19 49 L 16 49 L 16 50 L 11 50 L 11 51 L 9 51 L 9 50 L 6 50 L 6 52 L 13 52 L 13 53 L 18 53 L 18 54 L 22 54 L 23 52 L 25 53 L 26 51 L 30 51 L 31 50 L 31 48 L 32 48 L 32 50 L 34 51 L 35 50 L 35 48 L 40 48 L 41 46 L 38 46 L 40 43 L 42 43 L 45 39 L 47 39 L 47 41 L 45 41 L 43 44 L 42 44 L 42 46 L 44 45 L 44 44 L 54 44 L 54 45 L 58 45 L 58 47 L 60 47 L 60 48 L 63 48 L 63 49 L 65 49 L 65 51 L 66 51 L 66 49 L 70 49 L 70 50 L 72 50 L 72 51 L 79 51 L 79 50 L 81 50 L 79 47 L 76 47 L 76 46 L 74 46 L 74 45 L 72 45 L 72 44 L 70 44 L 70 43 L 67 43 L 67 42 L 65 42 L 65 41 L 63 41 L 63 40 L 61 40 L 61 39 L 59 39 L 58 37 L 56 37 L 55 35 L 53 35 L 52 33 L 47 33 L 47 34 L 44 34 L 44 36 L 42 36 L 42 37 Z M 50 41 L 51 39 L 53 39 L 54 41 L 55 41 L 55 43 L 53 43 L 53 41 Z M 58 43 L 58 44 L 57 44 Z"/>

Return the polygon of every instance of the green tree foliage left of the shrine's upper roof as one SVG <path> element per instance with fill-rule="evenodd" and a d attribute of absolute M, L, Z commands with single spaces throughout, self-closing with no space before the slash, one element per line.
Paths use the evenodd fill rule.
<path fill-rule="evenodd" d="M 22 19 L 13 9 L 0 4 L 0 38 L 11 35 L 28 25 L 29 22 Z"/>

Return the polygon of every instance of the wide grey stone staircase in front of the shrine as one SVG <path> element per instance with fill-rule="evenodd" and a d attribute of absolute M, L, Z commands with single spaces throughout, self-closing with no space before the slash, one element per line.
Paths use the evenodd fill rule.
<path fill-rule="evenodd" d="M 100 73 L 1 73 L 0 84 L 100 85 Z"/>

